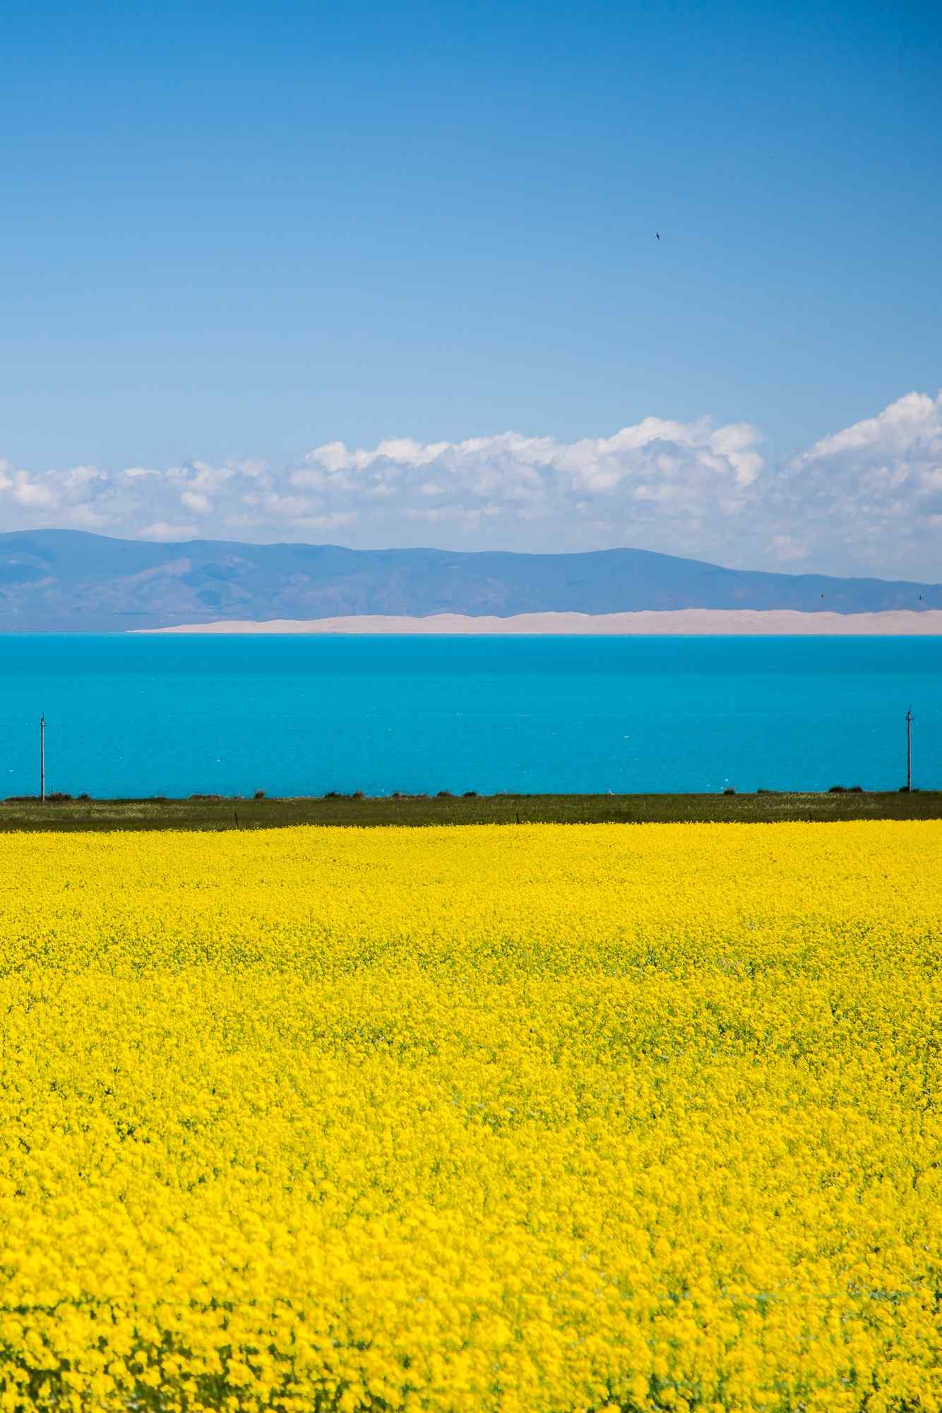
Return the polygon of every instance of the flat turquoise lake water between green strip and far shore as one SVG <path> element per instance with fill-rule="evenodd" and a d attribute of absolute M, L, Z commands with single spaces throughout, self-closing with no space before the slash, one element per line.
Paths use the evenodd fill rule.
<path fill-rule="evenodd" d="M 942 786 L 942 640 L 0 637 L 0 796 Z"/>

